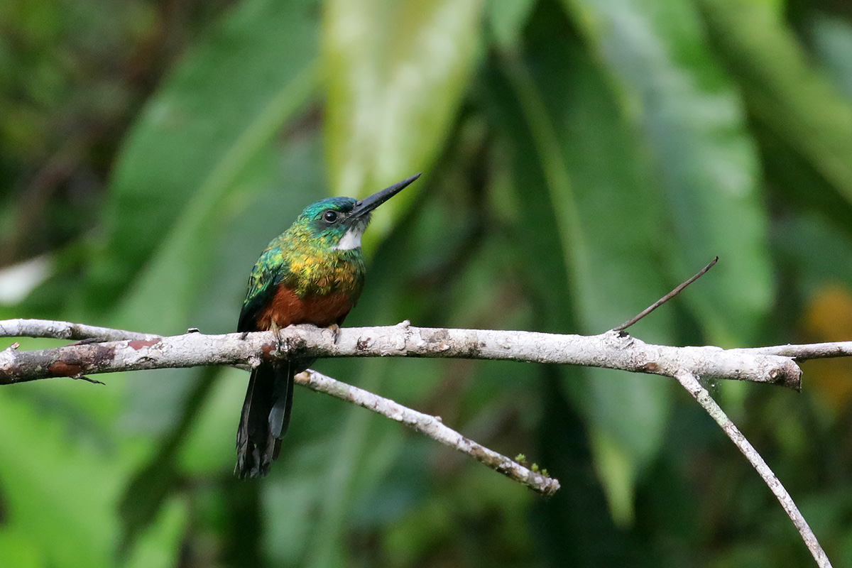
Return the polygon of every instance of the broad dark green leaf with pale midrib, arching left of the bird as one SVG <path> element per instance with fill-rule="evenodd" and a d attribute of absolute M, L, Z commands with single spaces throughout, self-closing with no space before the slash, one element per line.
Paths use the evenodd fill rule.
<path fill-rule="evenodd" d="M 153 290 L 182 323 L 228 192 L 314 86 L 317 27 L 314 0 L 247 0 L 167 79 L 118 159 L 89 307 L 135 283 L 131 312 Z"/>

